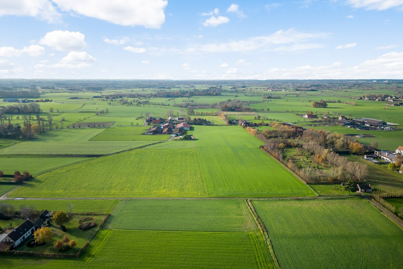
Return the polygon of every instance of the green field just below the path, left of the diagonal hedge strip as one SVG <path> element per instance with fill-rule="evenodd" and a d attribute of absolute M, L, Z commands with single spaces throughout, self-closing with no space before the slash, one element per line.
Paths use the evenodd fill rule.
<path fill-rule="evenodd" d="M 197 232 L 256 230 L 245 200 L 122 200 L 110 229 Z"/>

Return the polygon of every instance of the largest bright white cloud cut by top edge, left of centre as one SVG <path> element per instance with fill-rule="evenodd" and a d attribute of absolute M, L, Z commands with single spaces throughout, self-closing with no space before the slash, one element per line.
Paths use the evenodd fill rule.
<path fill-rule="evenodd" d="M 160 28 L 165 22 L 166 0 L 53 0 L 59 8 L 110 23 Z"/>

